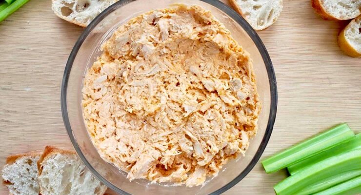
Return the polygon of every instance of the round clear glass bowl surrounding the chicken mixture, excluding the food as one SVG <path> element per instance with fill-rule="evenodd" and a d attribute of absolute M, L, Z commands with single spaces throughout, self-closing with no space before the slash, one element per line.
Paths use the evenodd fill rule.
<path fill-rule="evenodd" d="M 185 187 L 151 184 L 148 180 L 132 182 L 126 173 L 105 162 L 94 147 L 84 124 L 81 87 L 84 74 L 101 54 L 100 45 L 123 23 L 144 12 L 171 7 L 174 3 L 200 5 L 220 20 L 232 37 L 250 53 L 257 78 L 262 110 L 258 133 L 244 157 L 229 161 L 219 175 L 208 178 L 203 186 Z M 61 86 L 61 111 L 66 130 L 85 166 L 101 182 L 120 194 L 188 195 L 221 194 L 246 176 L 260 159 L 271 136 L 277 110 L 277 87 L 271 59 L 252 27 L 234 10 L 218 0 L 120 0 L 103 11 L 81 34 L 67 61 Z"/>

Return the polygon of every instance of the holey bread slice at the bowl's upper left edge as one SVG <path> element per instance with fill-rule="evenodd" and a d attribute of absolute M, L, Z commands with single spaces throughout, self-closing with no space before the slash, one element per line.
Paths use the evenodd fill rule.
<path fill-rule="evenodd" d="M 55 15 L 86 27 L 96 16 L 118 0 L 52 0 Z"/>

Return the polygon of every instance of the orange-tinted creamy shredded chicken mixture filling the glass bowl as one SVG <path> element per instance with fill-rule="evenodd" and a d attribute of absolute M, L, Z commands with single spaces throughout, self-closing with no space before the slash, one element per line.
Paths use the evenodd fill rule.
<path fill-rule="evenodd" d="M 251 59 L 209 11 L 142 14 L 102 49 L 84 78 L 85 124 L 129 180 L 197 186 L 245 153 L 260 112 Z"/>

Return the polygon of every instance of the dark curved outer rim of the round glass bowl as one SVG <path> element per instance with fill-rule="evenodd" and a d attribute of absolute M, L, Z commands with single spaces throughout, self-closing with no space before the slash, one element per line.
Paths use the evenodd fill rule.
<path fill-rule="evenodd" d="M 72 132 L 72 129 L 70 126 L 66 96 L 67 96 L 68 80 L 69 80 L 70 72 L 71 72 L 71 69 L 73 66 L 73 62 L 74 62 L 74 59 L 77 56 L 78 51 L 79 51 L 82 43 L 84 42 L 84 40 L 87 38 L 89 33 L 95 28 L 95 26 L 101 20 L 103 20 L 106 16 L 108 16 L 109 13 L 112 13 L 113 11 L 115 11 L 119 6 L 128 4 L 133 1 L 136 1 L 136 0 L 119 0 L 118 2 L 112 4 L 111 6 L 106 8 L 103 12 L 101 12 L 81 33 L 79 39 L 75 43 L 75 45 L 69 55 L 69 58 L 66 62 L 66 66 L 65 66 L 64 74 L 63 74 L 63 78 L 62 78 L 62 83 L 61 83 L 61 94 L 60 94 L 60 104 L 61 104 L 61 113 L 62 113 L 63 122 L 64 122 L 64 125 L 66 128 L 66 131 L 68 133 L 68 136 L 70 138 L 70 141 L 73 144 L 73 147 L 74 147 L 75 151 L 77 152 L 78 156 L 80 157 L 81 161 L 92 172 L 92 174 L 94 176 L 96 176 L 107 187 L 109 187 L 110 189 L 114 190 L 117 193 L 121 193 L 124 195 L 131 195 L 131 194 L 121 190 L 120 188 L 116 187 L 111 182 L 106 180 L 103 176 L 101 176 L 93 168 L 93 166 L 87 161 L 87 159 L 81 152 L 80 147 L 76 141 L 76 138 L 73 135 L 73 132 Z M 276 119 L 277 101 L 278 101 L 277 100 L 278 99 L 277 82 L 276 82 L 276 76 L 275 76 L 275 71 L 274 71 L 274 68 L 272 65 L 272 61 L 268 55 L 268 52 L 267 52 L 261 38 L 255 32 L 255 30 L 251 27 L 251 25 L 246 20 L 244 20 L 240 14 L 238 14 L 235 10 L 233 10 L 232 8 L 230 8 L 228 5 L 224 4 L 220 0 L 200 0 L 200 1 L 206 2 L 212 6 L 217 7 L 218 9 L 220 9 L 221 11 L 226 13 L 229 17 L 231 17 L 233 20 L 235 20 L 239 25 L 241 25 L 241 27 L 246 31 L 248 36 L 253 40 L 253 42 L 257 46 L 257 49 L 261 53 L 263 62 L 266 66 L 269 85 L 270 85 L 270 98 L 271 98 L 270 113 L 269 113 L 269 117 L 268 117 L 266 131 L 262 138 L 261 144 L 260 144 L 255 156 L 253 156 L 251 162 L 246 166 L 246 168 L 238 176 L 236 176 L 236 178 L 234 178 L 232 181 L 230 181 L 229 183 L 227 183 L 220 189 L 211 193 L 211 195 L 220 195 L 221 193 L 227 191 L 228 189 L 230 189 L 231 187 L 236 185 L 238 182 L 240 182 L 241 179 L 243 179 L 253 169 L 253 167 L 257 164 L 258 160 L 260 159 L 264 149 L 266 148 L 267 143 L 271 137 L 273 125 L 274 125 L 275 119 Z"/>

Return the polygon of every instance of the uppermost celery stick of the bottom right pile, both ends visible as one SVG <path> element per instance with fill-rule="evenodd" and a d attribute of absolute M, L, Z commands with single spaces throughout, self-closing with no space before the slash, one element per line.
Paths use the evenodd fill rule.
<path fill-rule="evenodd" d="M 262 161 L 266 173 L 276 172 L 305 158 L 317 155 L 329 148 L 355 137 L 346 123 L 342 123 L 316 137 L 307 139 L 281 153 Z"/>

